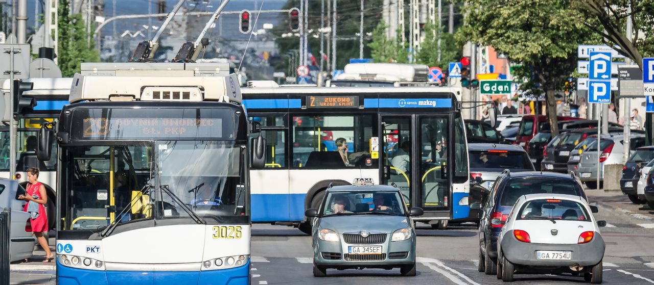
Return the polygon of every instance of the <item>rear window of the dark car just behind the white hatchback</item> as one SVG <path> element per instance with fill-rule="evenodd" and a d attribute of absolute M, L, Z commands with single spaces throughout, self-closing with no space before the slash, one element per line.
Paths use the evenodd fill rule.
<path fill-rule="evenodd" d="M 577 181 L 570 179 L 547 178 L 515 178 L 510 179 L 504 187 L 500 205 L 513 206 L 520 196 L 528 194 L 567 194 L 583 196 L 583 190 Z"/>

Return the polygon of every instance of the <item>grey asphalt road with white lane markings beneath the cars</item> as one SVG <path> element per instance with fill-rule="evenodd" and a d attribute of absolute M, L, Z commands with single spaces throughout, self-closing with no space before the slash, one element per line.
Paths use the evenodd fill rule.
<path fill-rule="evenodd" d="M 600 207 L 595 214 L 609 226 L 604 284 L 654 284 L 654 224 Z M 430 230 L 418 224 L 417 276 L 402 277 L 399 269 L 327 269 L 313 277 L 311 238 L 286 226 L 258 224 L 252 229 L 251 284 L 501 284 L 494 275 L 477 272 L 477 239 L 473 226 Z M 516 275 L 513 284 L 578 284 L 583 278 Z"/>

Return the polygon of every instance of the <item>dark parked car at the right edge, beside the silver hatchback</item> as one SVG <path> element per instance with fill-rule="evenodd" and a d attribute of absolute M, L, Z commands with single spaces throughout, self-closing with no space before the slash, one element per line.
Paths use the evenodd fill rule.
<path fill-rule="evenodd" d="M 622 179 L 620 179 L 620 190 L 629 197 L 634 204 L 642 204 L 647 201 L 638 198 L 636 187 L 640 179 L 640 170 L 654 158 L 654 146 L 638 147 L 627 159 L 622 168 Z"/>

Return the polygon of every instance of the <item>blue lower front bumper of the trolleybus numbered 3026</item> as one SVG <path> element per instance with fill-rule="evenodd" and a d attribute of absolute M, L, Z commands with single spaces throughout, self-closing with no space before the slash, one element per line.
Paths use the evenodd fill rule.
<path fill-rule="evenodd" d="M 250 284 L 250 262 L 232 269 L 211 271 L 102 271 L 78 269 L 57 261 L 59 285 L 130 285 L 130 284 Z"/>

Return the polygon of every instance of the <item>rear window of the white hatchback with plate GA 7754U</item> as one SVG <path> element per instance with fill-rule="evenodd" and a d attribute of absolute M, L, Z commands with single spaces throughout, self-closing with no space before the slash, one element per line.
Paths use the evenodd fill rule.
<path fill-rule="evenodd" d="M 554 220 L 576 220 L 589 222 L 590 216 L 579 202 L 559 199 L 539 199 L 526 202 L 519 211 L 517 220 L 548 218 Z"/>

